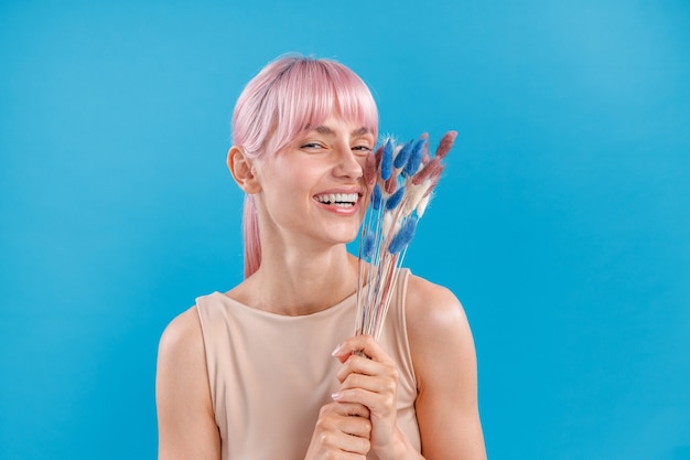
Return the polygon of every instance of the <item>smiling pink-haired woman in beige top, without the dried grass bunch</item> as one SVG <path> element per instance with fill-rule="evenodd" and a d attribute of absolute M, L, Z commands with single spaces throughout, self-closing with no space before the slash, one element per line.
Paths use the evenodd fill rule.
<path fill-rule="evenodd" d="M 160 459 L 484 459 L 476 362 L 445 288 L 399 277 L 379 342 L 353 335 L 363 168 L 378 115 L 347 67 L 267 65 L 233 117 L 245 280 L 161 339 Z M 366 357 L 355 354 L 362 351 Z"/>

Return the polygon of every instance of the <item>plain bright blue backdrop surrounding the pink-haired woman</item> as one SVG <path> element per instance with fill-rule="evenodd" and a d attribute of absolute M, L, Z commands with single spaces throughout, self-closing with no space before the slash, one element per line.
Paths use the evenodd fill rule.
<path fill-rule="evenodd" d="M 406 261 L 465 306 L 489 457 L 690 459 L 682 0 L 0 2 L 0 458 L 155 456 L 160 333 L 241 278 L 231 109 L 289 51 L 459 131 Z"/>

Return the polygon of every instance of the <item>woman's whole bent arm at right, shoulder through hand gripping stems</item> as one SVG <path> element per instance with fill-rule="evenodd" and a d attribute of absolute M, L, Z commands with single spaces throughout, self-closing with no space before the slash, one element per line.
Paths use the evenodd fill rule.
<path fill-rule="evenodd" d="M 334 353 L 344 363 L 335 399 L 368 407 L 371 449 L 380 459 L 485 460 L 476 356 L 462 306 L 448 289 L 411 277 L 406 315 L 421 454 L 396 426 L 397 370 L 370 336 L 349 338 Z M 354 355 L 357 350 L 370 360 Z"/>

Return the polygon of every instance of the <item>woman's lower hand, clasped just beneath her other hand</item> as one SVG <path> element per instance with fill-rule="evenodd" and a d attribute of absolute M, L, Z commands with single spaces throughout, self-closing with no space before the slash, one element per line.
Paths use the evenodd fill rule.
<path fill-rule="evenodd" d="M 321 408 L 305 460 L 364 460 L 369 451 L 369 409 L 354 403 Z"/>

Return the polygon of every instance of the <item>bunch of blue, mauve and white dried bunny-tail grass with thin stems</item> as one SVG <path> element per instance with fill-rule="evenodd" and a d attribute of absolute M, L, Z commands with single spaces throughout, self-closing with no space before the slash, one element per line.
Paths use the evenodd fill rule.
<path fill-rule="evenodd" d="M 446 132 L 433 157 L 425 133 L 405 145 L 388 138 L 367 159 L 365 180 L 371 195 L 359 238 L 357 334 L 379 339 L 398 269 L 456 136 Z"/>

